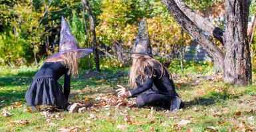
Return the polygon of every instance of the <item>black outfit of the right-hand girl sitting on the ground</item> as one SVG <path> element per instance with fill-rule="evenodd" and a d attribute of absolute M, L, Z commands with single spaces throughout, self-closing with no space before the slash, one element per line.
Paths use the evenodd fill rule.
<path fill-rule="evenodd" d="M 147 72 L 145 71 L 147 74 Z M 142 106 L 157 106 L 169 109 L 170 102 L 174 96 L 178 96 L 175 90 L 174 81 L 170 79 L 169 74 L 161 77 L 160 73 L 140 82 L 140 77 L 136 79 L 138 85 L 134 90 L 130 90 L 132 97 L 136 98 L 136 104 Z"/>

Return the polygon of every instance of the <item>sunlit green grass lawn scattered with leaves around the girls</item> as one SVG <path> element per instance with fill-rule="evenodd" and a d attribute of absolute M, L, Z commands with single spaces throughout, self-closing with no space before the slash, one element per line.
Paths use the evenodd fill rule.
<path fill-rule="evenodd" d="M 31 113 L 25 104 L 25 92 L 36 70 L 29 67 L 0 68 L 1 131 L 255 131 L 256 85 L 239 87 L 224 84 L 210 73 L 173 74 L 176 89 L 186 108 L 170 113 L 156 108 L 100 108 L 85 113 Z M 72 79 L 70 102 L 101 93 L 113 93 L 116 84 L 126 85 L 127 69 L 82 71 Z M 62 84 L 63 81 L 61 80 Z M 134 99 L 130 99 L 134 100 Z M 12 123 L 11 121 L 23 121 Z"/>

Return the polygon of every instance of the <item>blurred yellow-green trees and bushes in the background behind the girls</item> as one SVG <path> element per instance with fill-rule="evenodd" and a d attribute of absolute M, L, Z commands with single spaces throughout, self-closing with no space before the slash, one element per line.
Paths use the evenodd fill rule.
<path fill-rule="evenodd" d="M 223 0 L 185 2 L 197 13 L 211 19 L 215 26 L 225 30 L 225 18 L 216 15 L 221 13 L 219 9 L 223 8 Z M 184 48 L 193 40 L 160 0 L 90 0 L 88 5 L 94 16 L 100 67 L 123 67 L 130 62 L 130 56 L 124 51 L 132 48 L 138 20 L 142 17 L 148 18 L 154 53 L 166 66 L 177 59 L 182 63 Z M 251 16 L 255 15 L 255 8 L 255 1 L 252 1 Z M 0 9 L 0 65 L 38 65 L 57 52 L 61 16 L 68 20 L 80 47 L 93 47 L 88 11 L 82 0 L 3 0 Z M 256 60 L 255 40 L 253 36 L 253 62 Z M 216 44 L 221 48 L 221 43 Z M 93 61 L 93 57 L 88 56 L 81 60 L 80 66 L 96 68 Z"/>

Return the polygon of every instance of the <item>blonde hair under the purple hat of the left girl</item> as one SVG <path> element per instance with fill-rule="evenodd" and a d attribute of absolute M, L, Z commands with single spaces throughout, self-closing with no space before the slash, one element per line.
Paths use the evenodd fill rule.
<path fill-rule="evenodd" d="M 68 68 L 68 75 L 73 77 L 78 76 L 78 61 L 80 59 L 80 52 L 78 51 L 70 51 L 61 54 L 59 57 L 53 57 L 46 60 L 46 62 L 56 62 L 61 61 L 63 65 Z"/>

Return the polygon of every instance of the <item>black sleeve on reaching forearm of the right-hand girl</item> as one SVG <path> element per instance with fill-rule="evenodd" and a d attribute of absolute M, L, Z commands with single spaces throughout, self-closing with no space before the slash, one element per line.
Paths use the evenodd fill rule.
<path fill-rule="evenodd" d="M 130 90 L 130 92 L 131 92 L 132 96 L 134 96 L 136 94 L 140 94 L 140 93 L 152 88 L 153 83 L 154 83 L 154 81 L 152 78 L 145 79 L 143 84 L 140 84 L 140 86 L 138 86 L 138 88 L 135 88 L 134 90 Z"/>

